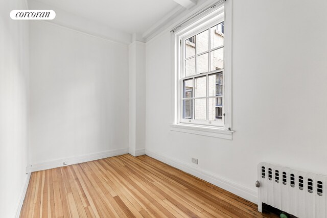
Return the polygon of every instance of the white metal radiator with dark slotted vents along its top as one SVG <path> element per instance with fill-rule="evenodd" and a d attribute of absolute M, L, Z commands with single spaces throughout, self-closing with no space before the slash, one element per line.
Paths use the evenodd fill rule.
<path fill-rule="evenodd" d="M 327 177 L 273 165 L 258 164 L 258 210 L 262 203 L 300 218 L 327 218 Z"/>

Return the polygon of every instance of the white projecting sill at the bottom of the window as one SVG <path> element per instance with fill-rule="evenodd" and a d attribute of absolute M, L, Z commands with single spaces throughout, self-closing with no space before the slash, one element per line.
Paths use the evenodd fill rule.
<path fill-rule="evenodd" d="M 204 135 L 215 138 L 232 140 L 233 131 L 225 130 L 219 127 L 206 127 L 201 125 L 171 124 L 171 131 L 184 132 L 195 135 Z"/>

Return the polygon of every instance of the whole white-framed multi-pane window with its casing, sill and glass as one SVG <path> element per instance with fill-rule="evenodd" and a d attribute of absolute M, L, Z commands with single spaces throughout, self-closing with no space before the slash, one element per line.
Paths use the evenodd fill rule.
<path fill-rule="evenodd" d="M 230 21 L 227 0 L 173 29 L 171 130 L 231 139 Z"/>

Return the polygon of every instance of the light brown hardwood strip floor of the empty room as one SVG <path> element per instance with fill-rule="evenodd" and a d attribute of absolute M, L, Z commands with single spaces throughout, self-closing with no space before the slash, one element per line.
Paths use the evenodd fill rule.
<path fill-rule="evenodd" d="M 20 217 L 278 217 L 148 156 L 32 173 Z"/>

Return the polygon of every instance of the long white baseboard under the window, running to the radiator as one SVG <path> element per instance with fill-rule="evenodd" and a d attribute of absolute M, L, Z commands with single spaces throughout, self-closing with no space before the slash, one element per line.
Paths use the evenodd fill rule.
<path fill-rule="evenodd" d="M 163 155 L 157 154 L 155 152 L 151 152 L 149 150 L 146 150 L 146 155 L 157 159 L 161 162 L 167 163 L 168 165 L 174 166 L 181 171 L 184 171 L 186 173 L 189 173 L 193 176 L 196 176 L 200 179 L 203 179 L 204 181 L 207 181 L 209 183 L 212 183 L 214 185 L 217 185 L 218 187 L 225 189 L 237 196 L 240 196 L 241 198 L 244 198 L 250 202 L 253 202 L 255 204 L 258 203 L 258 196 L 257 193 L 253 190 L 250 190 L 242 185 L 236 184 L 234 182 L 231 182 L 227 179 L 224 179 L 218 175 L 203 171 L 197 167 L 192 166 L 191 164 L 168 158 Z"/>

